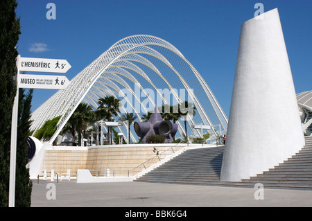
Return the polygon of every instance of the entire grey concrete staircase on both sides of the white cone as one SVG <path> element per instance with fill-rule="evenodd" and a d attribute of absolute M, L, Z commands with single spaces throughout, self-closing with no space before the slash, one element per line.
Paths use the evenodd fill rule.
<path fill-rule="evenodd" d="M 220 182 L 223 150 L 223 146 L 187 150 L 137 182 L 252 187 L 261 183 L 268 188 L 312 188 L 312 137 L 306 137 L 306 146 L 279 166 L 241 182 Z"/>

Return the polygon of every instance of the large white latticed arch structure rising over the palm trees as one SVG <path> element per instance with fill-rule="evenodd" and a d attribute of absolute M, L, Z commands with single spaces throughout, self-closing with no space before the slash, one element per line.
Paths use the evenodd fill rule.
<path fill-rule="evenodd" d="M 151 90 L 155 94 L 150 93 Z M 169 91 L 169 96 L 164 91 Z M 35 132 L 47 120 L 61 116 L 49 140 L 53 143 L 79 103 L 88 103 L 96 109 L 98 98 L 106 95 L 123 100 L 127 108 L 122 107 L 122 112 L 130 109 L 139 121 L 142 121 L 140 114 L 153 110 L 155 105 L 175 105 L 191 98 L 188 101 L 196 106 L 197 114 L 188 121 L 189 128 L 195 124 L 212 128 L 218 125 L 222 134 L 227 131 L 227 116 L 200 73 L 175 46 L 151 35 L 125 37 L 112 45 L 78 73 L 67 89 L 57 91 L 33 112 L 31 130 Z M 160 98 L 157 102 L 155 96 Z M 147 102 L 150 107 L 145 107 Z M 185 134 L 184 123 L 178 121 L 177 124 L 178 133 Z M 198 130 L 195 133 L 202 136 Z M 214 129 L 211 133 L 221 135 Z M 130 136 L 136 140 L 133 134 Z"/>

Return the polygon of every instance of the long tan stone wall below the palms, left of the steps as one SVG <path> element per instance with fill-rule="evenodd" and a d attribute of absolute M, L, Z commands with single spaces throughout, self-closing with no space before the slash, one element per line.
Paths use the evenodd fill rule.
<path fill-rule="evenodd" d="M 111 176 L 126 177 L 129 175 L 129 170 L 157 156 L 154 148 L 159 151 L 159 154 L 170 149 L 167 151 L 169 155 L 185 146 L 186 144 L 130 144 L 69 147 L 44 143 L 44 152 L 40 154 L 41 159 L 35 159 L 36 156 L 33 159 L 33 161 L 41 161 L 37 163 L 40 168 L 35 170 L 31 168 L 35 171 L 31 173 L 31 178 L 36 178 L 38 174 L 42 176 L 43 170 L 47 170 L 48 173 L 51 170 L 55 173 L 67 173 L 67 169 L 71 170 L 71 176 L 76 176 L 77 170 L 89 170 L 94 176 L 105 176 L 107 168 L 110 169 Z"/>

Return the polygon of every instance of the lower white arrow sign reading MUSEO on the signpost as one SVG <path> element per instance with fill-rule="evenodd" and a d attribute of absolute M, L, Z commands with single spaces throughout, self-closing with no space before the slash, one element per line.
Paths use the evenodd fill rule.
<path fill-rule="evenodd" d="M 70 81 L 65 76 L 19 75 L 20 88 L 66 89 L 69 82 Z"/>

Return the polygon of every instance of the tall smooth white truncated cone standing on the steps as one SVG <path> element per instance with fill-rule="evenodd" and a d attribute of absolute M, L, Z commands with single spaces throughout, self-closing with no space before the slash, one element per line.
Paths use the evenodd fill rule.
<path fill-rule="evenodd" d="M 274 9 L 241 26 L 220 179 L 248 179 L 303 146 L 291 67 Z"/>

